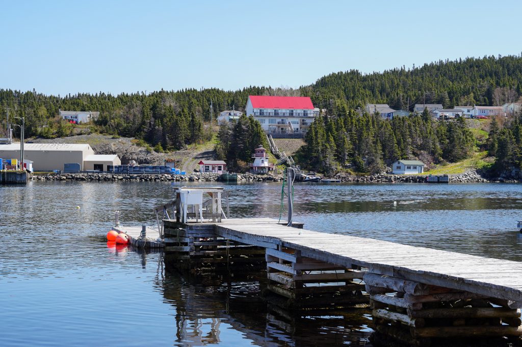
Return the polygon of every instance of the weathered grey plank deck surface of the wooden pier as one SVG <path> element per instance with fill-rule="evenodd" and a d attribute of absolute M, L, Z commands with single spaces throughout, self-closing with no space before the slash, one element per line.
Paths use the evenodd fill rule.
<path fill-rule="evenodd" d="M 295 229 L 270 218 L 223 220 L 216 224 L 216 232 L 243 243 L 290 247 L 330 264 L 354 264 L 385 275 L 522 302 L 521 262 Z"/>

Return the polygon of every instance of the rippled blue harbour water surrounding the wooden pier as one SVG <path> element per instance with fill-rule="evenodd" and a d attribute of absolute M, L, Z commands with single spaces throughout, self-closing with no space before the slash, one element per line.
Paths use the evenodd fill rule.
<path fill-rule="evenodd" d="M 115 210 L 151 224 L 174 185 L 0 187 L 0 345 L 367 343 L 366 310 L 285 316 L 259 300 L 256 278 L 201 283 L 165 272 L 161 253 L 106 244 Z M 232 217 L 279 216 L 280 184 L 228 188 Z M 307 229 L 522 261 L 522 184 L 311 183 L 294 200 Z"/>

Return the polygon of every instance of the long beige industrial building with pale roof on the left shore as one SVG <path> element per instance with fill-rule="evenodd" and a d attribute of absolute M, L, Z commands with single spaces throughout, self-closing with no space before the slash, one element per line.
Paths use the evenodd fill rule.
<path fill-rule="evenodd" d="M 23 157 L 32 161 L 34 171 L 63 170 L 66 163 L 79 164 L 81 171 L 107 171 L 107 165 L 121 165 L 117 155 L 94 154 L 88 144 L 25 143 Z M 20 142 L 0 144 L 0 158 L 19 159 Z"/>

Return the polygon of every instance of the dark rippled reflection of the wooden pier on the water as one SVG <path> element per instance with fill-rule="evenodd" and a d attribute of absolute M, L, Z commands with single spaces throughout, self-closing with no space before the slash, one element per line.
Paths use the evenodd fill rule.
<path fill-rule="evenodd" d="M 176 340 L 184 346 L 219 342 L 231 335 L 258 346 L 368 345 L 370 312 L 352 309 L 328 315 L 295 315 L 267 305 L 260 296 L 263 278 L 227 281 L 165 274 L 165 302 L 176 307 Z"/>

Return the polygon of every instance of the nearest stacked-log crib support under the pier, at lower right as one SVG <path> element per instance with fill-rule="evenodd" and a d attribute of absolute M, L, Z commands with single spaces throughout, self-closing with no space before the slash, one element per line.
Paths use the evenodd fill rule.
<path fill-rule="evenodd" d="M 519 304 L 485 295 L 366 273 L 375 321 L 373 344 L 429 346 L 433 341 L 468 345 L 472 339 L 522 342 Z"/>

